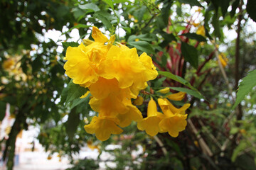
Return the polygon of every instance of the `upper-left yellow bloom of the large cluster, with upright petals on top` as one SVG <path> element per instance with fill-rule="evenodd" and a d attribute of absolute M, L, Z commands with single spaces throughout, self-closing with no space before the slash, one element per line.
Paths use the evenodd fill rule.
<path fill-rule="evenodd" d="M 104 45 L 108 41 L 107 37 L 103 35 L 96 27 L 92 28 L 92 38 L 95 42 L 90 45 L 83 45 L 78 47 L 68 47 L 66 57 L 68 60 L 64 64 L 65 74 L 73 79 L 74 84 L 82 86 L 90 86 L 99 78 L 99 68 L 102 60 L 105 60 L 109 45 Z M 114 42 L 114 35 L 110 38 L 110 45 Z"/>

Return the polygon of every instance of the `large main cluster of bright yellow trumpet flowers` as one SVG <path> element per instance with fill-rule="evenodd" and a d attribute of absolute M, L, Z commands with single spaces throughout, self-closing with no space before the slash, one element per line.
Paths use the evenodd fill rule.
<path fill-rule="evenodd" d="M 93 27 L 92 38 L 95 41 L 87 41 L 87 46 L 81 43 L 68 47 L 64 69 L 74 84 L 90 90 L 89 104 L 99 115 L 85 125 L 85 130 L 104 141 L 111 134 L 120 134 L 132 120 L 142 120 L 131 98 L 137 98 L 139 91 L 146 88 L 146 81 L 155 79 L 158 72 L 145 52 L 138 56 L 136 48 L 113 45 L 114 35 L 108 40 Z"/>

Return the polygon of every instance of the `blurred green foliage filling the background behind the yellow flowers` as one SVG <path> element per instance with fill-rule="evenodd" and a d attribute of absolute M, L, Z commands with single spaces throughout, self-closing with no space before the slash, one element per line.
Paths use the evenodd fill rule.
<path fill-rule="evenodd" d="M 16 136 L 30 125 L 40 128 L 46 151 L 68 155 L 73 169 L 98 168 L 100 156 L 74 162 L 83 146 L 109 152 L 114 157 L 107 161 L 116 169 L 256 169 L 255 88 L 232 109 L 239 80 L 256 66 L 255 7 L 254 0 L 1 0 L 0 120 L 6 103 L 15 118 L 0 141 L 8 169 Z M 89 96 L 79 98 L 84 89 L 69 84 L 63 57 L 68 46 L 92 40 L 92 26 L 115 33 L 117 41 L 150 55 L 159 71 L 191 84 L 187 89 L 162 73 L 140 94 L 138 108 L 146 116 L 147 93 L 163 95 L 156 91 L 165 86 L 187 92 L 184 101 L 174 102 L 191 103 L 188 126 L 178 137 L 149 137 L 135 123 L 106 142 L 85 132 L 95 113 Z M 74 29 L 77 42 L 70 37 Z M 46 40 L 48 30 L 59 30 L 64 39 Z"/>

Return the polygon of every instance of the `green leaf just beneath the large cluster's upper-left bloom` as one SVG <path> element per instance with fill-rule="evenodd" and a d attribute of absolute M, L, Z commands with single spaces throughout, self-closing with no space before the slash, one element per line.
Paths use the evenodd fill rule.
<path fill-rule="evenodd" d="M 65 104 L 75 100 L 76 98 L 80 98 L 80 96 L 82 96 L 83 94 L 86 93 L 86 91 L 88 91 L 88 89 L 78 84 L 74 84 L 73 80 L 70 80 L 70 83 L 68 84 L 67 88 L 68 88 L 68 96 L 65 101 Z"/>

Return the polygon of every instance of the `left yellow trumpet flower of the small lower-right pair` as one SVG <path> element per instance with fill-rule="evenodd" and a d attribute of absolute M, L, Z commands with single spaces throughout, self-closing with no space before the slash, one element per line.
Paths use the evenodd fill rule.
<path fill-rule="evenodd" d="M 137 128 L 139 130 L 145 130 L 148 135 L 157 135 L 160 131 L 159 123 L 163 118 L 164 115 L 157 112 L 156 102 L 151 98 L 147 108 L 147 117 L 137 123 Z"/>

